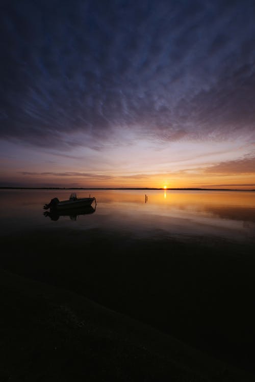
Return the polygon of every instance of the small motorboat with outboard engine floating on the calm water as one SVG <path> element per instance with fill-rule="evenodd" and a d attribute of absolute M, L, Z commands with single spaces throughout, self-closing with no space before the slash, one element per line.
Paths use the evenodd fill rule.
<path fill-rule="evenodd" d="M 59 201 L 58 198 L 53 198 L 48 204 L 45 204 L 43 208 L 50 209 L 50 211 L 63 211 L 67 209 L 88 207 L 91 206 L 93 202 L 95 202 L 96 205 L 94 197 L 77 198 L 77 195 L 73 193 L 70 195 L 69 200 Z"/>

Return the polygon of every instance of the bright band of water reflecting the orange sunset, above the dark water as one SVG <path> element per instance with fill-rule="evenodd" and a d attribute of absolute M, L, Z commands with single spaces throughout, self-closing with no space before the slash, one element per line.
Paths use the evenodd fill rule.
<path fill-rule="evenodd" d="M 178 190 L 77 190 L 96 197 L 93 214 L 52 221 L 43 205 L 71 190 L 1 190 L 1 232 L 71 227 L 146 236 L 220 236 L 241 240 L 255 234 L 255 192 Z M 147 201 L 145 203 L 145 194 Z"/>

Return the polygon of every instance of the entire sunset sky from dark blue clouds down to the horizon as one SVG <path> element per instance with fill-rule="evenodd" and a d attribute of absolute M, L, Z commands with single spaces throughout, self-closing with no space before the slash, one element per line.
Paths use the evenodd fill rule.
<path fill-rule="evenodd" d="M 255 188 L 253 0 L 0 7 L 0 186 Z"/>

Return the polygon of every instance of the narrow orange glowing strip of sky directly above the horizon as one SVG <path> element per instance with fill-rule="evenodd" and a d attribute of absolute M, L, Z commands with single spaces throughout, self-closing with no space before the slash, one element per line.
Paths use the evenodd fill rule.
<path fill-rule="evenodd" d="M 50 165 L 52 166 L 52 165 Z M 79 169 L 80 170 L 80 169 Z M 56 171 L 56 172 L 55 172 Z M 65 187 L 65 188 L 216 188 L 216 189 L 254 189 L 254 174 L 207 174 L 203 170 L 192 173 L 176 172 L 168 174 L 171 184 L 164 181 L 165 174 L 115 174 L 114 172 L 84 173 L 72 172 L 71 167 L 31 168 L 31 172 L 17 172 L 9 168 L 1 172 L 3 186 L 14 187 Z M 164 175 L 164 177 L 163 177 Z M 210 176 L 209 176 L 210 175 Z M 163 181 L 162 181 L 163 178 Z M 163 185 L 162 185 L 163 183 Z M 170 188 L 171 187 L 171 188 Z"/>

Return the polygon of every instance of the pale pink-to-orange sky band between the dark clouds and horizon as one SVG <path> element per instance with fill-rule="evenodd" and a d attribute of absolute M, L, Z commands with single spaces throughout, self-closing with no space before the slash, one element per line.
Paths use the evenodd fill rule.
<path fill-rule="evenodd" d="M 8 142 L 3 147 L 1 186 L 255 188 L 252 142 L 150 143 L 149 149 L 136 142 L 64 153 Z"/>

